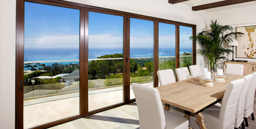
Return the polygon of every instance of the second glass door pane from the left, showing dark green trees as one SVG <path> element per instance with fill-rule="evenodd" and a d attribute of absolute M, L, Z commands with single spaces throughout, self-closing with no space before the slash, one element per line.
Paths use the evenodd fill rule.
<path fill-rule="evenodd" d="M 123 17 L 89 12 L 89 111 L 123 102 Z"/>

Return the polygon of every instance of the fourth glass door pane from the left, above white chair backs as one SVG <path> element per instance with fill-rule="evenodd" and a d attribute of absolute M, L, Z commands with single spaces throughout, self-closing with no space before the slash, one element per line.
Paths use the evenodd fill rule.
<path fill-rule="evenodd" d="M 175 75 L 175 25 L 159 23 L 159 70 L 173 69 Z"/>

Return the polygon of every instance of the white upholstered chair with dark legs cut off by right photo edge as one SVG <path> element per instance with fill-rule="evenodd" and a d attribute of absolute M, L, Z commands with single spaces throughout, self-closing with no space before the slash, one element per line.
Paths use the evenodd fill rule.
<path fill-rule="evenodd" d="M 244 104 L 244 121 L 245 121 L 245 126 L 247 127 L 248 127 L 247 118 L 250 115 L 252 116 L 252 120 L 254 120 L 253 104 L 254 104 L 254 94 L 256 89 L 256 72 L 252 73 L 252 75 L 253 75 L 253 79 L 247 90 L 245 104 Z"/>

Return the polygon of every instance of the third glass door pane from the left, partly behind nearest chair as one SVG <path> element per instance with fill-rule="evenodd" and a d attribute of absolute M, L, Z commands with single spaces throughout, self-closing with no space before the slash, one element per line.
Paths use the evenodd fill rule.
<path fill-rule="evenodd" d="M 153 87 L 154 22 L 134 18 L 130 22 L 130 84 Z M 133 98 L 130 85 L 130 99 Z"/>

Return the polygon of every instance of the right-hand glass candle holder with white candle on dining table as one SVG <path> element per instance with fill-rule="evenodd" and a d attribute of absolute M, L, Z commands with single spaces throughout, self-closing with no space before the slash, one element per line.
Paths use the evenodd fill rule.
<path fill-rule="evenodd" d="M 226 80 L 224 79 L 225 76 L 225 65 L 224 64 L 216 64 L 215 65 L 215 73 L 214 76 L 216 77 L 214 81 L 224 83 Z"/>

